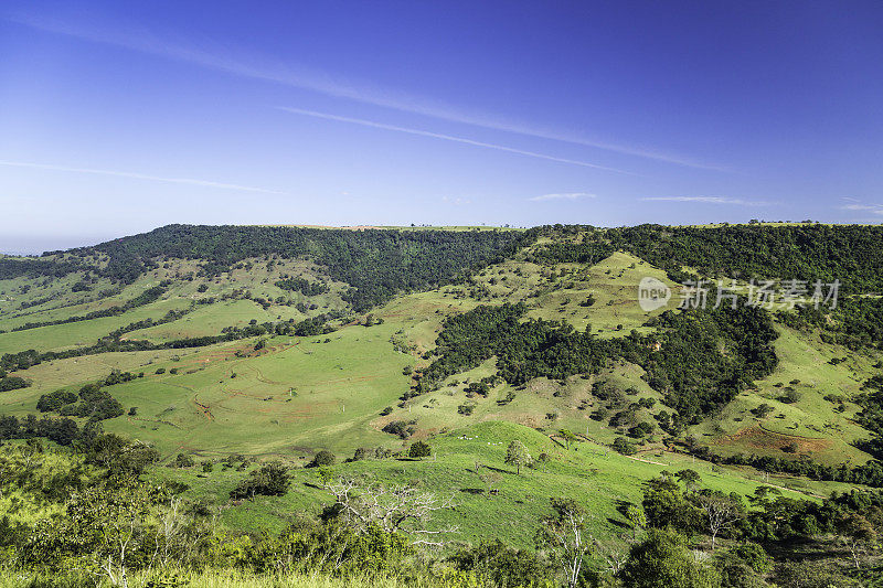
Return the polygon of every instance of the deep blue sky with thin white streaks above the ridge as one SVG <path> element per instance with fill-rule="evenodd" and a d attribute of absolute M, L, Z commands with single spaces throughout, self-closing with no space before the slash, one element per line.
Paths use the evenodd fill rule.
<path fill-rule="evenodd" d="M 883 3 L 0 4 L 0 250 L 883 221 Z"/>

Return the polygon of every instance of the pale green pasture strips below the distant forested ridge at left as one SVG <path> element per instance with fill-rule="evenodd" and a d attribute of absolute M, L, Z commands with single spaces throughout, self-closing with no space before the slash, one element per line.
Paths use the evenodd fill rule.
<path fill-rule="evenodd" d="M 330 310 L 342 310 L 345 304 L 340 298 L 344 285 L 325 278 L 318 268 L 304 260 L 249 259 L 228 272 L 212 278 L 195 277 L 199 264 L 193 260 L 172 259 L 136 280 L 119 292 L 99 297 L 98 287 L 93 287 L 88 297 L 79 297 L 77 303 L 57 307 L 62 300 L 53 300 L 33 308 L 13 309 L 12 304 L 0 307 L 0 354 L 15 353 L 29 349 L 39 351 L 61 351 L 94 344 L 99 338 L 128 324 L 151 319 L 157 321 L 170 310 L 190 309 L 196 300 L 214 298 L 211 304 L 201 304 L 192 312 L 172 322 L 128 332 L 124 339 L 146 339 L 155 343 L 190 336 L 215 335 L 227 327 L 242 328 L 251 321 L 300 321 Z M 298 277 L 308 281 L 326 281 L 329 291 L 317 296 L 305 296 L 298 291 L 284 290 L 276 286 L 283 277 Z M 76 276 L 66 277 L 62 288 L 70 290 Z M 13 284 L 15 282 L 15 284 Z M 4 280 L 0 288 L 9 292 L 20 292 L 24 286 L 29 296 L 44 296 L 41 284 L 56 288 L 54 281 L 45 278 L 35 280 Z M 54 324 L 11 332 L 25 323 L 61 321 L 72 317 L 83 317 L 89 312 L 103 311 L 114 306 L 123 306 L 149 288 L 168 284 L 162 297 L 149 304 L 132 308 L 124 313 Z M 38 292 L 33 295 L 33 292 Z M 7 295 L 8 297 L 11 295 Z M 246 298 L 247 297 L 247 298 Z M 2 297 L 0 297 L 2 298 Z M 74 297 L 77 298 L 77 297 Z M 221 300 L 227 298 L 226 300 Z M 270 304 L 255 302 L 263 299 Z M 28 297 L 17 296 L 17 301 Z M 89 300 L 89 301 L 83 301 Z M 55 304 L 55 306 L 53 306 Z M 19 304 L 20 306 L 20 304 Z M 50 307 L 45 309 L 44 307 Z M 300 307 L 300 309 L 298 308 Z"/>

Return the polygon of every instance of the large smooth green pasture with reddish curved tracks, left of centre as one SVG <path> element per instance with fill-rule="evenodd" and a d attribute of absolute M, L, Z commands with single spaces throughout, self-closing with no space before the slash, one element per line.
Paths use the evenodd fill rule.
<path fill-rule="evenodd" d="M 168 362 L 166 372 L 114 387 L 137 416 L 106 423 L 157 445 L 166 456 L 194 451 L 308 457 L 319 448 L 377 445 L 370 421 L 407 387 L 412 363 L 390 343 L 392 328 L 349 327 L 316 338 L 273 338 L 214 346 Z M 251 355 L 237 357 L 240 355 Z"/>

